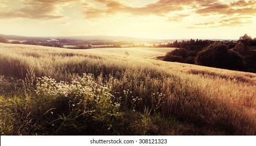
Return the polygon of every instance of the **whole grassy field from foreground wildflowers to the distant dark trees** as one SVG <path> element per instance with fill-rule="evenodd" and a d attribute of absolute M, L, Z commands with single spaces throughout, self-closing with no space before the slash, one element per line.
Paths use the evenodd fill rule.
<path fill-rule="evenodd" d="M 2 135 L 256 135 L 256 74 L 150 59 L 174 48 L 0 43 Z"/>

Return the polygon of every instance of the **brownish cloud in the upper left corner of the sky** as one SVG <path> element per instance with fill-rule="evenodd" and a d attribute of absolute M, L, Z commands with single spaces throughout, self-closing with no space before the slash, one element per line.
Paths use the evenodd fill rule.
<path fill-rule="evenodd" d="M 0 12 L 0 19 L 8 18 L 30 18 L 30 19 L 60 19 L 64 18 L 61 14 L 62 7 L 75 0 L 30 0 L 23 1 L 23 6 L 17 9 L 9 9 Z"/>

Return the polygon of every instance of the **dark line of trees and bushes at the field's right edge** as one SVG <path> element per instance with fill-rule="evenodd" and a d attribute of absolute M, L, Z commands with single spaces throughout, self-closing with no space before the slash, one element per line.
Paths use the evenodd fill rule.
<path fill-rule="evenodd" d="M 254 64 L 255 60 L 248 59 L 248 51 L 252 50 L 253 46 L 256 46 L 256 38 L 252 39 L 248 34 L 240 36 L 238 41 L 191 39 L 157 45 L 157 47 L 177 47 L 166 53 L 163 58 L 165 61 L 241 71 L 248 71 L 248 69 L 251 71 L 247 65 Z M 256 57 L 256 54 L 250 55 L 252 58 Z M 256 64 L 251 67 L 256 68 Z"/>

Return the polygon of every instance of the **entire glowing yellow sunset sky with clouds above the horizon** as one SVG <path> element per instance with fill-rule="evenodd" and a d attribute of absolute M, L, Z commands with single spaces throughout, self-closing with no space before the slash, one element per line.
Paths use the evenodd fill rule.
<path fill-rule="evenodd" d="M 0 0 L 0 34 L 256 38 L 256 0 Z"/>

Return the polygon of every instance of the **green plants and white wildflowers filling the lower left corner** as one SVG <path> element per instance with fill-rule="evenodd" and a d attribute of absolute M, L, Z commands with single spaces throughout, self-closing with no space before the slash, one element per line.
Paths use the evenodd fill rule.
<path fill-rule="evenodd" d="M 24 81 L 27 98 L 1 96 L 0 125 L 2 135 L 73 135 L 92 134 L 95 129 L 112 133 L 117 120 L 123 117 L 120 98 L 112 85 L 96 83 L 92 74 L 57 82 L 49 77 L 27 76 Z M 39 127 L 50 129 L 37 129 Z M 100 128 L 98 127 L 100 126 Z M 76 131 L 76 132 L 74 132 Z M 115 130 L 114 130 L 115 131 Z M 70 133 L 71 132 L 71 133 Z"/>

